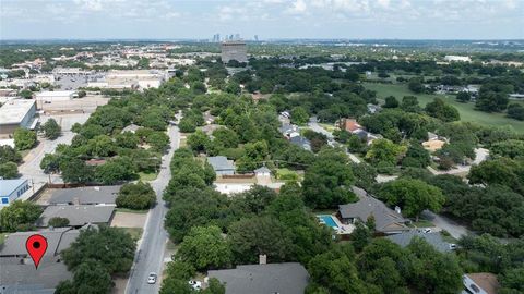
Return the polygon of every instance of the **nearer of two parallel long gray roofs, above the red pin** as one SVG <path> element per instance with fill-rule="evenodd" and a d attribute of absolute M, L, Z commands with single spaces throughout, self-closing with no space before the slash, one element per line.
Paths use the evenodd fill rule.
<path fill-rule="evenodd" d="M 36 222 L 37 226 L 49 226 L 51 218 L 66 218 L 70 226 L 82 226 L 87 223 L 109 223 L 115 206 L 95 205 L 53 205 L 48 206 Z"/>

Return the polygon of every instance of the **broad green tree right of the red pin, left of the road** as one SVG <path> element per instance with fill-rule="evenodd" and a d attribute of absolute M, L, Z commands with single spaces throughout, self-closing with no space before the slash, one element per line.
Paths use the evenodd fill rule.
<path fill-rule="evenodd" d="M 109 272 L 126 273 L 133 264 L 136 244 L 120 228 L 99 226 L 82 230 L 71 246 L 62 252 L 69 270 L 88 260 L 97 260 Z"/>

